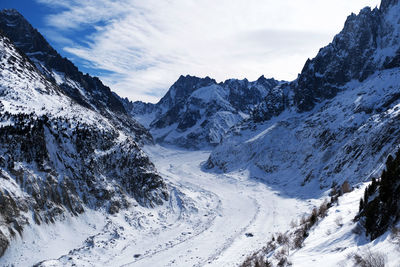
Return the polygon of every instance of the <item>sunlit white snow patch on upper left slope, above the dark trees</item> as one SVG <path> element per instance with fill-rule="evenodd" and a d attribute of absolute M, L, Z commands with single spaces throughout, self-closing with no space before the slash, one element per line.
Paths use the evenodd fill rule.
<path fill-rule="evenodd" d="M 63 95 L 41 73 L 35 71 L 34 66 L 25 61 L 5 38 L 0 39 L 0 64 L 4 66 L 0 70 L 2 112 L 35 113 L 37 116 L 46 114 L 51 117 L 73 118 L 89 125 L 96 124 L 100 128 L 110 127 L 110 123 L 96 112 Z M 53 72 L 53 75 L 58 83 L 62 83 L 61 74 Z"/>

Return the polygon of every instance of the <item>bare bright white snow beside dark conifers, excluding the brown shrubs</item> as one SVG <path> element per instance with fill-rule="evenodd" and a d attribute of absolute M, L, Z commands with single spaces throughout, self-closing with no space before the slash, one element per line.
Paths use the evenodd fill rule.
<path fill-rule="evenodd" d="M 353 219 L 358 213 L 359 201 L 367 183 L 339 198 L 339 205 L 329 209 L 323 219 L 305 240 L 304 247 L 290 256 L 293 266 L 354 266 L 351 255 L 367 251 L 381 253 L 386 266 L 399 266 L 400 250 L 387 233 L 373 242 L 354 233 Z"/>

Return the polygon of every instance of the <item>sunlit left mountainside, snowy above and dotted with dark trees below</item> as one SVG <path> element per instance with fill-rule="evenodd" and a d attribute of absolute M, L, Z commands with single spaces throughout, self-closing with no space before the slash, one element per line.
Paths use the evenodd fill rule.
<path fill-rule="evenodd" d="M 49 79 L 20 51 L 0 32 L 0 256 L 29 224 L 162 204 L 166 185 L 135 141 L 143 127 L 131 132 L 136 122 L 103 115 L 123 115 L 122 106 L 71 98 L 65 83 L 83 94 L 78 83 Z"/>

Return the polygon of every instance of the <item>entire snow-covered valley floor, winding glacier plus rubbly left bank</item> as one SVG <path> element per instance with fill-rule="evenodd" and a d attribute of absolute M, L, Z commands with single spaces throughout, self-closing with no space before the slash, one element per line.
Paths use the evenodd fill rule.
<path fill-rule="evenodd" d="M 205 172 L 209 151 L 145 150 L 169 185 L 168 203 L 26 228 L 2 264 L 236 266 L 320 202 L 284 196 L 245 170 Z"/>

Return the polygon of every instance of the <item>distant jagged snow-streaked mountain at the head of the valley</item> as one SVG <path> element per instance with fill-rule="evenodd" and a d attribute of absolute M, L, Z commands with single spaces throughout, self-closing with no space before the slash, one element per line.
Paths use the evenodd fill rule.
<path fill-rule="evenodd" d="M 157 104 L 125 101 L 131 114 L 157 142 L 199 148 L 219 144 L 235 124 L 247 119 L 281 82 L 261 76 L 257 81 L 181 76 Z"/>

